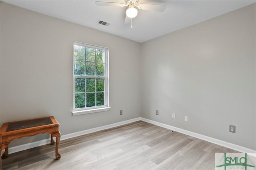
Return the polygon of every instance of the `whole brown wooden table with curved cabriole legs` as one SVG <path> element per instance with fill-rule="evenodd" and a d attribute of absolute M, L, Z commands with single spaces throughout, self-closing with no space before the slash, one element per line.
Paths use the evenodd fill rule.
<path fill-rule="evenodd" d="M 58 152 L 60 143 L 59 125 L 53 116 L 4 123 L 0 129 L 0 153 L 5 149 L 2 158 L 8 157 L 8 145 L 13 139 L 48 132 L 51 134 L 51 145 L 54 145 L 52 137 L 56 137 L 55 156 L 56 160 L 60 159 L 60 153 Z M 0 169 L 2 169 L 1 164 L 0 159 Z"/>

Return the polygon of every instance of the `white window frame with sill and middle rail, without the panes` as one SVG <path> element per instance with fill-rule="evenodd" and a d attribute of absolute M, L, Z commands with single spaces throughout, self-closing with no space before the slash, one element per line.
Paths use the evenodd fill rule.
<path fill-rule="evenodd" d="M 95 48 L 95 49 L 101 49 L 105 51 L 105 83 L 104 83 L 104 106 L 94 106 L 94 107 L 84 107 L 84 108 L 75 108 L 75 78 L 99 78 L 98 76 L 75 76 L 74 75 L 74 45 L 80 45 L 83 47 L 89 47 L 89 48 Z M 73 111 L 72 115 L 82 115 L 82 114 L 88 114 L 88 113 L 96 113 L 101 111 L 109 111 L 109 73 L 108 73 L 108 59 L 109 59 L 109 49 L 106 47 L 100 47 L 97 45 L 90 45 L 86 43 L 80 43 L 80 42 L 73 42 Z M 102 76 L 103 77 L 103 76 Z"/>

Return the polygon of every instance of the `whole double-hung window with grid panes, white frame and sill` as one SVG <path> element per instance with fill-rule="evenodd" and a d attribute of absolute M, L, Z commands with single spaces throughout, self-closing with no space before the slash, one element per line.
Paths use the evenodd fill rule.
<path fill-rule="evenodd" d="M 74 42 L 73 115 L 109 110 L 108 49 Z"/>

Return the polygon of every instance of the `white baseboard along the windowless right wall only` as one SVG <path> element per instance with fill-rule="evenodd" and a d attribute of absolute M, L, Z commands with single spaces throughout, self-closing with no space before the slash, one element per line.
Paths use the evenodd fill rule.
<path fill-rule="evenodd" d="M 230 148 L 230 149 L 233 149 L 233 150 L 237 150 L 239 152 L 242 152 L 242 153 L 256 153 L 256 150 L 252 150 L 252 149 L 248 149 L 248 148 L 245 148 L 245 147 L 241 147 L 239 145 L 235 145 L 233 143 L 228 143 L 228 142 L 225 142 L 225 141 L 221 141 L 219 139 L 214 139 L 212 137 L 208 137 L 208 136 L 204 136 L 204 135 L 200 135 L 198 133 L 194 133 L 194 132 L 191 132 L 191 131 L 187 131 L 187 130 L 184 130 L 184 129 L 180 129 L 178 127 L 173 127 L 173 126 L 170 126 L 170 125 L 166 125 L 166 124 L 163 124 L 163 123 L 159 123 L 157 121 L 152 121 L 150 119 L 146 119 L 146 118 L 143 118 L 141 117 L 140 118 L 142 121 L 145 121 L 145 122 L 148 122 L 148 123 L 151 123 L 153 125 L 157 125 L 157 126 L 160 126 L 160 127 L 164 127 L 166 129 L 170 129 L 170 130 L 173 130 L 173 131 L 176 131 L 176 132 L 179 132 L 179 133 L 183 133 L 185 135 L 189 135 L 189 136 L 192 136 L 192 137 L 196 137 L 198 139 L 202 139 L 204 141 L 208 141 L 208 142 L 211 142 L 211 143 L 214 143 L 214 144 L 217 144 L 217 145 L 220 145 L 220 146 L 223 146 L 223 147 L 226 147 L 226 148 Z"/>

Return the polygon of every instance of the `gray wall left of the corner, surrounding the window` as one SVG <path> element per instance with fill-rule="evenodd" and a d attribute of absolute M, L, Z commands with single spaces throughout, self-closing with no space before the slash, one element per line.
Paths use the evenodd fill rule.
<path fill-rule="evenodd" d="M 65 135 L 140 117 L 140 43 L 4 2 L 1 35 L 1 125 L 53 115 Z M 110 111 L 72 116 L 73 41 L 109 48 Z M 14 140 L 10 147 L 47 137 Z"/>

